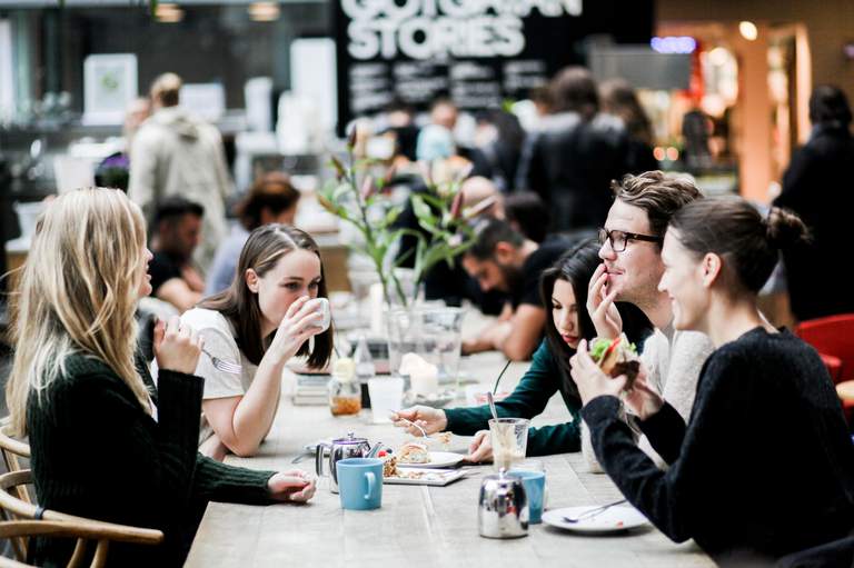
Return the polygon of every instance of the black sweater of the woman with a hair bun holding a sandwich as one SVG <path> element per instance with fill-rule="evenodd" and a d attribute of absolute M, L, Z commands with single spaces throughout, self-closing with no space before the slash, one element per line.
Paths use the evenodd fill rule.
<path fill-rule="evenodd" d="M 706 360 L 687 426 L 665 406 L 640 428 L 659 470 L 619 420 L 619 400 L 583 409 L 596 457 L 662 532 L 718 564 L 762 566 L 854 527 L 854 445 L 815 350 L 755 328 Z"/>

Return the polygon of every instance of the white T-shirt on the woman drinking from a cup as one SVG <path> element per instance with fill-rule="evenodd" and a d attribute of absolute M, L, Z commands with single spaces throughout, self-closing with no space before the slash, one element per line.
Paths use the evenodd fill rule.
<path fill-rule="evenodd" d="M 211 358 L 201 353 L 195 375 L 205 379 L 205 392 L 202 400 L 214 398 L 242 397 L 252 383 L 257 365 L 252 365 L 244 352 L 237 347 L 236 332 L 231 322 L 216 310 L 193 308 L 181 316 L 181 322 L 197 330 L 205 339 L 205 350 L 224 361 L 236 362 L 241 366 L 240 375 L 225 372 L 214 367 Z M 207 440 L 214 434 L 214 429 L 201 415 L 201 428 L 199 429 L 199 444 Z"/>

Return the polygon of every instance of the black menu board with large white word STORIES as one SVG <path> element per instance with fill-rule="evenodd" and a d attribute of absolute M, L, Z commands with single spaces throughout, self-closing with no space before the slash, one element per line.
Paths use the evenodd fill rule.
<path fill-rule="evenodd" d="M 648 43 L 653 0 L 336 0 L 339 129 L 394 99 L 483 109 L 527 97 L 583 40 Z"/>

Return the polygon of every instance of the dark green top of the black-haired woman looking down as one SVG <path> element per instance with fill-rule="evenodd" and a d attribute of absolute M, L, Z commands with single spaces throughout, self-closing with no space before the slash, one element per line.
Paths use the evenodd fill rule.
<path fill-rule="evenodd" d="M 558 369 L 548 343 L 544 340 L 534 352 L 534 360 L 513 393 L 496 402 L 499 417 L 534 418 L 545 410 L 548 399 L 560 391 L 567 410 L 573 417 L 570 422 L 543 426 L 528 430 L 528 456 L 565 454 L 578 451 L 582 447 L 582 421 L 578 412 L 582 401 L 575 391 L 575 385 L 564 378 Z M 448 418 L 447 429 L 454 434 L 471 436 L 477 430 L 489 428 L 493 417 L 488 406 L 471 408 L 450 408 L 445 410 Z"/>

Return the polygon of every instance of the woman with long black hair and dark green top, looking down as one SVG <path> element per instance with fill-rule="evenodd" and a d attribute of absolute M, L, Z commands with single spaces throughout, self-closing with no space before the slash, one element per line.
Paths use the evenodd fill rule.
<path fill-rule="evenodd" d="M 534 418 L 545 410 L 555 392 L 560 392 L 572 421 L 532 428 L 528 431 L 527 455 L 543 456 L 580 449 L 580 398 L 569 379 L 569 358 L 575 353 L 582 338 L 595 336 L 595 329 L 587 310 L 587 282 L 599 265 L 598 243 L 587 241 L 564 255 L 557 263 L 543 272 L 540 296 L 552 307 L 552 317 L 546 318 L 546 338 L 534 352 L 534 360 L 513 393 L 496 402 L 499 417 Z M 643 313 L 632 306 L 622 306 L 626 313 L 626 329 L 629 337 L 639 340 L 652 329 Z M 633 323 L 637 322 L 637 323 Z M 633 332 L 634 330 L 634 332 Z M 416 406 L 398 413 L 416 422 L 427 434 L 449 430 L 463 436 L 475 436 L 466 459 L 484 461 L 493 458 L 488 421 L 489 407 L 451 408 L 440 410 Z M 409 434 L 418 430 L 399 420 L 396 426 L 408 427 Z"/>

